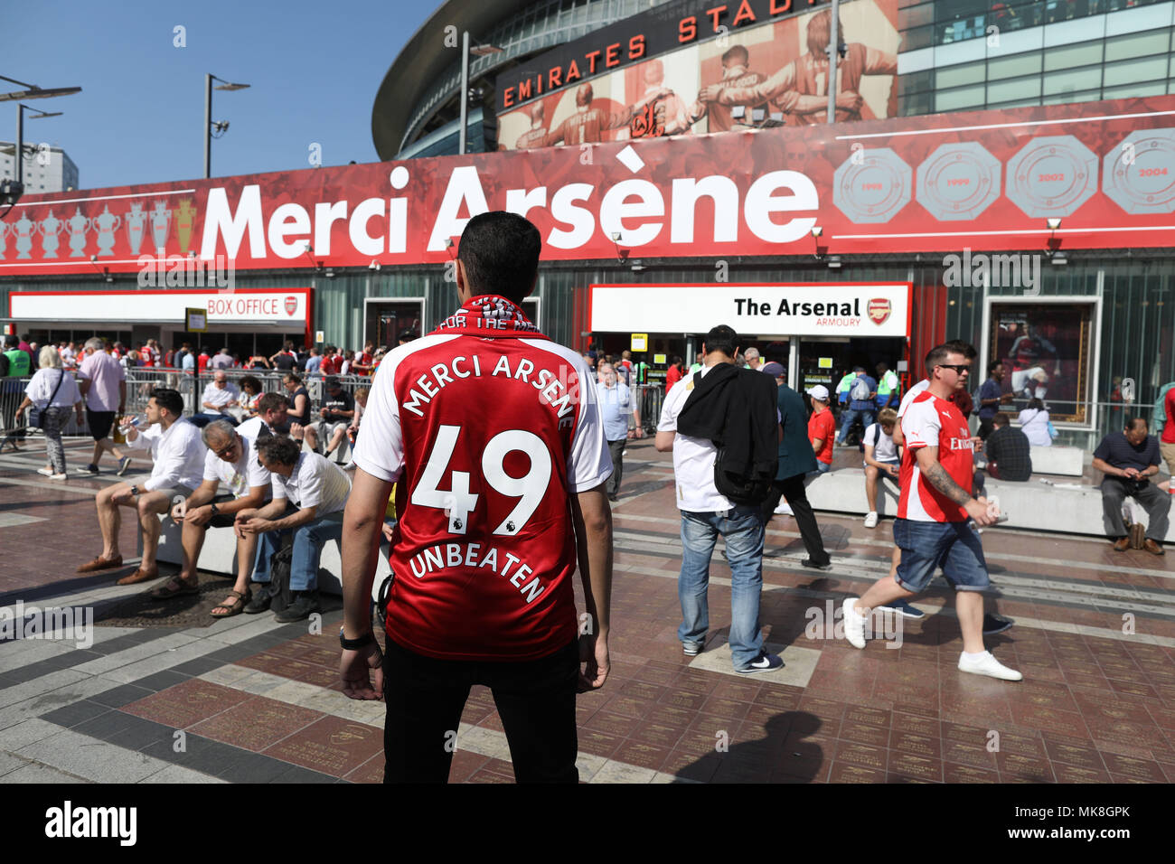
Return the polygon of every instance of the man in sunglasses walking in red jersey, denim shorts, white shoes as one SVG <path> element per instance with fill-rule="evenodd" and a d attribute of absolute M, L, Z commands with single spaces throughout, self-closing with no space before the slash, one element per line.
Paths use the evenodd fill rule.
<path fill-rule="evenodd" d="M 865 648 L 871 610 L 926 589 L 941 567 L 955 587 L 964 651 L 959 669 L 1003 681 L 1023 676 L 1008 669 L 983 647 L 983 597 L 991 584 L 979 535 L 967 524 L 989 525 L 998 514 L 986 498 L 971 495 L 974 441 L 967 420 L 951 401 L 971 374 L 972 360 L 958 347 L 941 344 L 926 355 L 929 386 L 914 395 L 901 416 L 905 450 L 901 497 L 894 541 L 901 549 L 897 575 L 875 582 L 862 597 L 844 603 L 845 637 Z"/>

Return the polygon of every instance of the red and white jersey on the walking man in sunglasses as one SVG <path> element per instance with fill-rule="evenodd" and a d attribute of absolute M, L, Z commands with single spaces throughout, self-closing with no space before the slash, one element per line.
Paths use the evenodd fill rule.
<path fill-rule="evenodd" d="M 901 415 L 901 434 L 906 446 L 901 456 L 901 497 L 898 518 L 914 522 L 966 522 L 967 511 L 931 485 L 918 467 L 915 450 L 938 447 L 939 462 L 955 483 L 968 493 L 974 474 L 974 449 L 971 429 L 954 402 L 947 402 L 929 390 L 922 390 Z"/>

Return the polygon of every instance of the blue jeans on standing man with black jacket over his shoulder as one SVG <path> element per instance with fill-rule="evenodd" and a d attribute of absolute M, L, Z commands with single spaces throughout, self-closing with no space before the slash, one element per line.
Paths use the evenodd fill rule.
<path fill-rule="evenodd" d="M 682 627 L 677 636 L 684 643 L 701 644 L 706 639 L 710 557 L 719 534 L 726 538 L 726 563 L 731 568 L 731 657 L 736 669 L 746 669 L 763 651 L 759 592 L 765 531 L 758 507 L 740 505 L 727 514 L 682 511 L 682 574 L 677 581 Z"/>

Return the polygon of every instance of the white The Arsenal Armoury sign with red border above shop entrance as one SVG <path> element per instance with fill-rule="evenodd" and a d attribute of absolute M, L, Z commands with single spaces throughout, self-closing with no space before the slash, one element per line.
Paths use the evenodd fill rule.
<path fill-rule="evenodd" d="M 908 282 L 662 284 L 591 287 L 593 333 L 737 333 L 788 336 L 906 336 Z"/>

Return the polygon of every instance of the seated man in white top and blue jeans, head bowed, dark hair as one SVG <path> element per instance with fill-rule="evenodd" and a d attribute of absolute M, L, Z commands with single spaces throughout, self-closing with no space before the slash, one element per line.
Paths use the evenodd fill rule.
<path fill-rule="evenodd" d="M 318 611 L 318 560 L 328 540 L 343 536 L 343 508 L 351 482 L 343 470 L 316 453 L 303 453 L 297 441 L 278 435 L 257 446 L 261 464 L 273 476 L 274 500 L 260 510 L 236 515 L 237 534 L 260 534 L 253 581 L 263 583 L 246 605 L 249 615 L 262 612 L 273 601 L 270 558 L 281 549 L 282 535 L 294 531 L 294 557 L 289 584 L 293 602 L 277 612 L 281 622 L 301 621 Z M 290 505 L 297 508 L 283 516 Z"/>

